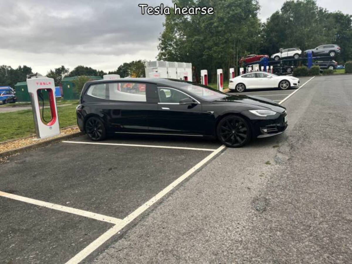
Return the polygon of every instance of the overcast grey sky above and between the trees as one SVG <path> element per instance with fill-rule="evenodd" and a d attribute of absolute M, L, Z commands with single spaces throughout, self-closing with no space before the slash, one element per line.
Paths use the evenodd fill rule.
<path fill-rule="evenodd" d="M 259 0 L 260 19 L 284 1 Z M 352 1 L 317 2 L 352 14 Z M 0 0 L 0 65 L 27 65 L 44 75 L 61 65 L 109 71 L 136 59 L 155 60 L 164 16 L 142 15 L 140 3 L 171 0 Z"/>

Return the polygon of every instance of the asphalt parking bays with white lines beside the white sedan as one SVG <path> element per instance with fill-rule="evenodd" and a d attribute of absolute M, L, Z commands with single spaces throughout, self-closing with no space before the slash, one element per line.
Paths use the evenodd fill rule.
<path fill-rule="evenodd" d="M 300 86 L 297 88 L 292 88 L 288 90 L 280 90 L 278 88 L 273 88 L 273 89 L 251 89 L 248 92 L 244 93 L 236 93 L 236 92 L 229 92 L 228 94 L 242 94 L 242 95 L 249 95 L 249 96 L 258 96 L 258 97 L 264 97 L 266 99 L 270 99 L 276 103 L 281 102 L 284 100 L 286 97 L 289 95 L 293 94 L 297 89 L 300 87 L 304 86 L 307 82 L 312 80 L 312 77 L 301 77 L 300 78 Z"/>

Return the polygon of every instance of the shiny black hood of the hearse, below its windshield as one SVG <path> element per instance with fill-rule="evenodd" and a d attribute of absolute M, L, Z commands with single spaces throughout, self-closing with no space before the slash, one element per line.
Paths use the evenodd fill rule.
<path fill-rule="evenodd" d="M 230 95 L 224 99 L 216 100 L 218 102 L 229 102 L 229 103 L 241 103 L 248 105 L 249 107 L 258 108 L 259 109 L 270 109 L 277 113 L 283 113 L 285 111 L 285 107 L 275 103 L 270 99 L 266 99 L 259 96 L 249 96 L 249 95 Z"/>

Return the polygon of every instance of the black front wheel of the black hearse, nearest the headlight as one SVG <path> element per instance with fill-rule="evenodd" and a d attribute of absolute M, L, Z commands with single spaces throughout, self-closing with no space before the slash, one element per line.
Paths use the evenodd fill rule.
<path fill-rule="evenodd" d="M 251 138 L 249 124 L 237 115 L 229 115 L 221 119 L 217 133 L 221 143 L 228 147 L 241 147 Z"/>

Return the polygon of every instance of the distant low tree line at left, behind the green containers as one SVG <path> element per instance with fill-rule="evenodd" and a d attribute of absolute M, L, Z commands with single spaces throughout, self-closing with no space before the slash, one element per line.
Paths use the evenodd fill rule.
<path fill-rule="evenodd" d="M 108 74 L 119 74 L 121 78 L 128 76 L 131 77 L 145 77 L 144 71 L 145 61 L 138 60 L 132 62 L 125 62 L 120 65 L 115 71 L 109 71 Z M 0 86 L 10 86 L 14 88 L 18 82 L 24 82 L 27 79 L 28 74 L 32 74 L 32 68 L 26 65 L 18 66 L 13 69 L 11 66 L 2 65 L 0 66 Z M 107 73 L 102 70 L 96 70 L 91 67 L 79 65 L 70 71 L 64 65 L 61 67 L 50 69 L 46 76 L 53 78 L 55 85 L 59 86 L 62 83 L 64 77 L 74 76 L 103 76 Z"/>

